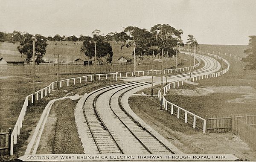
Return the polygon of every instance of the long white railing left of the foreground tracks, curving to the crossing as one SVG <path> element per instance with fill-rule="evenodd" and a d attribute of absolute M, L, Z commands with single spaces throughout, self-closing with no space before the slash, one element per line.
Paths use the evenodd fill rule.
<path fill-rule="evenodd" d="M 98 77 L 99 80 L 101 79 L 101 77 L 104 77 L 104 78 L 106 77 L 106 79 L 108 79 L 108 77 L 112 77 L 112 75 L 113 75 L 113 79 L 116 78 L 116 81 L 117 81 L 118 75 L 119 75 L 119 77 L 121 77 L 120 72 L 106 73 L 106 74 L 96 74 L 96 76 Z M 86 75 L 86 76 L 81 76 L 81 77 L 77 77 L 77 78 L 64 79 L 64 80 L 59 81 L 59 86 L 62 87 L 63 82 L 67 82 L 67 86 L 69 86 L 70 81 L 73 81 L 73 84 L 76 85 L 76 80 L 79 80 L 79 83 L 81 83 L 82 81 L 87 82 L 87 78 L 89 78 L 90 81 L 92 81 L 93 76 L 94 75 Z M 39 98 L 43 98 L 44 96 L 47 96 L 47 94 L 51 93 L 51 90 L 54 90 L 55 85 L 57 86 L 57 81 L 54 81 L 49 86 L 44 87 L 43 89 L 36 91 L 35 92 L 35 99 L 39 100 Z M 31 103 L 34 103 L 33 94 L 26 96 L 25 101 L 23 103 L 23 107 L 20 111 L 20 115 L 17 119 L 17 122 L 16 122 L 14 128 L 13 128 L 13 131 L 12 131 L 12 134 L 11 134 L 11 155 L 13 155 L 13 146 L 14 146 L 14 144 L 17 144 L 17 135 L 20 135 L 20 128 L 22 127 L 22 121 L 24 120 L 24 116 L 26 115 L 26 109 L 27 109 L 29 100 L 31 100 Z"/>

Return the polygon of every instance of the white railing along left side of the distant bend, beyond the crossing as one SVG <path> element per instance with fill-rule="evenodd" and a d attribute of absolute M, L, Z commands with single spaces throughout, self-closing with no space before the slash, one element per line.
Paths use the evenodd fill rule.
<path fill-rule="evenodd" d="M 185 54 L 185 55 L 190 55 L 190 56 L 194 57 L 194 55 L 192 55 L 190 53 L 185 53 L 185 52 L 180 52 L 180 53 Z M 197 61 L 199 61 L 198 57 L 195 57 L 195 59 Z M 197 64 L 195 64 L 195 66 L 191 66 L 191 67 L 182 67 L 182 68 L 178 68 L 178 69 L 162 69 L 162 70 L 160 69 L 160 70 L 153 70 L 153 72 L 155 72 L 156 75 L 159 74 L 159 73 L 162 74 L 162 72 L 164 74 L 166 74 L 166 72 L 167 72 L 167 74 L 169 74 L 169 73 L 176 73 L 176 72 L 184 72 L 184 71 L 187 71 L 187 70 L 190 70 L 190 69 L 197 68 L 197 67 L 199 67 L 199 65 L 200 65 L 200 63 L 198 62 Z M 134 76 L 136 74 L 137 74 L 137 76 L 139 76 L 140 74 L 142 76 L 144 76 L 144 75 L 152 75 L 152 70 L 126 72 L 126 77 L 128 77 L 128 74 L 131 74 L 131 76 Z"/>

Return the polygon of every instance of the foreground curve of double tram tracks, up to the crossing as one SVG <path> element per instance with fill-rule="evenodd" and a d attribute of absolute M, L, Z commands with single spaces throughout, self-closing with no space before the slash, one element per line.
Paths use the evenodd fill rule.
<path fill-rule="evenodd" d="M 87 96 L 83 111 L 95 153 L 174 153 L 122 107 L 124 93 L 147 84 L 116 84 Z"/>

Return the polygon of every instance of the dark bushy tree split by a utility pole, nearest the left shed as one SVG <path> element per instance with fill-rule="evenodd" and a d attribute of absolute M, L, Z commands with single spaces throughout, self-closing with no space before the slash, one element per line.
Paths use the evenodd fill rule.
<path fill-rule="evenodd" d="M 35 35 L 35 63 L 40 64 L 43 58 L 43 55 L 46 52 L 47 39 L 42 35 Z M 33 35 L 26 33 L 22 35 L 22 39 L 20 40 L 20 46 L 17 47 L 19 52 L 23 55 L 26 55 L 26 61 L 31 61 L 33 56 Z"/>

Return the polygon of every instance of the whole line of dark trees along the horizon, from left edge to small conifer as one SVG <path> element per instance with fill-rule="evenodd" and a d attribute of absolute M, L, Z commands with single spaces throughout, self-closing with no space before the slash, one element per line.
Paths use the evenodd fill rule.
<path fill-rule="evenodd" d="M 92 37 L 80 35 L 77 38 L 75 35 L 66 36 L 55 35 L 54 37 L 48 36 L 44 37 L 42 35 L 36 34 L 31 35 L 28 32 L 18 32 L 4 33 L 0 32 L 0 41 L 9 42 L 20 42 L 17 47 L 21 54 L 27 55 L 26 61 L 31 61 L 32 58 L 32 42 L 35 42 L 35 56 L 36 64 L 40 64 L 43 55 L 46 52 L 47 40 L 50 41 L 83 41 L 81 46 L 81 52 L 88 58 L 92 59 L 94 57 L 96 49 L 96 60 L 99 64 L 112 62 L 112 47 L 110 41 L 115 41 L 121 43 L 120 48 L 133 47 L 135 55 L 140 56 L 143 59 L 145 55 L 157 55 L 163 49 L 166 55 L 172 56 L 176 55 L 173 47 L 184 46 L 181 35 L 183 30 L 175 29 L 175 27 L 169 24 L 157 24 L 151 27 L 148 31 L 147 29 L 141 29 L 137 26 L 127 26 L 122 32 L 110 32 L 107 35 L 102 35 L 100 30 L 95 30 L 92 32 Z M 189 46 L 198 45 L 197 40 L 193 35 L 188 35 L 188 41 L 185 43 Z M 96 48 L 95 48 L 96 47 Z M 133 55 L 134 55 L 133 52 Z"/>

